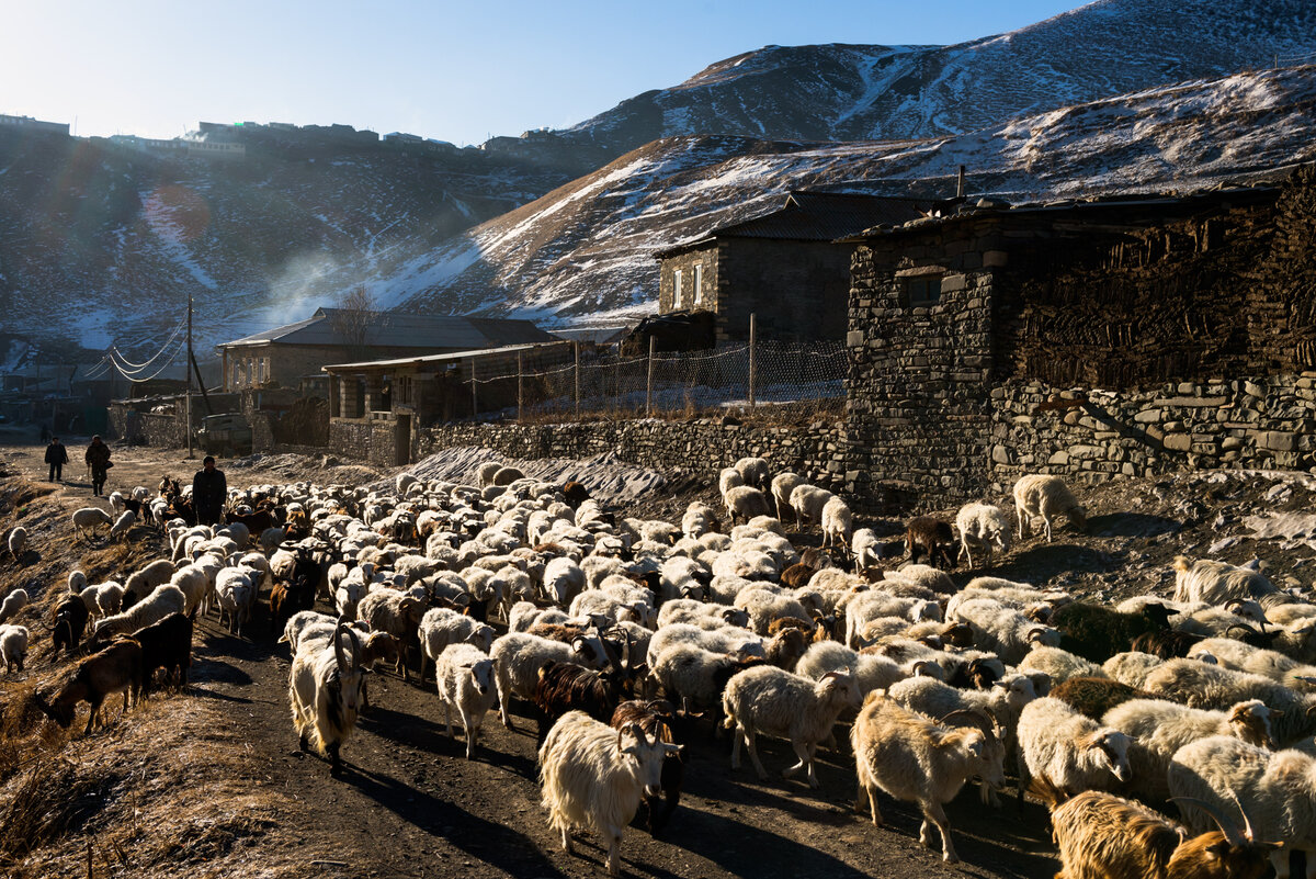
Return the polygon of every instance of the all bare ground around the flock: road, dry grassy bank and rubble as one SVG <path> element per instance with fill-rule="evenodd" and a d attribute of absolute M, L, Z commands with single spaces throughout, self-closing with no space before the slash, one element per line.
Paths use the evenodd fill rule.
<path fill-rule="evenodd" d="M 70 663 L 47 655 L 43 612 L 72 567 L 95 580 L 126 574 L 162 553 L 162 538 L 137 528 L 124 546 L 72 538 L 67 513 L 93 503 L 80 467 L 67 484 L 42 482 L 41 449 L 22 437 L 0 446 L 0 533 L 32 532 L 20 559 L 0 558 L 0 595 L 34 596 L 20 622 L 33 630 L 24 672 L 0 679 L 0 874 L 46 876 L 591 876 L 604 851 L 588 836 L 576 855 L 561 851 L 534 780 L 532 725 L 486 726 L 474 762 L 443 734 L 432 687 L 392 674 L 371 680 L 372 712 L 345 747 L 343 780 L 296 751 L 288 718 L 286 645 L 258 615 L 242 637 L 199 622 L 192 691 L 136 708 L 104 732 L 58 730 L 30 707 Z M 0 437 L 3 442 L 5 437 Z M 80 449 L 70 443 L 71 455 Z M 116 449 L 109 488 L 187 476 L 179 451 Z M 221 462 L 233 487 L 309 479 L 370 483 L 388 474 L 332 459 L 274 455 Z M 597 462 L 607 467 L 608 462 Z M 616 462 L 612 462 L 616 466 Z M 590 468 L 579 472 L 588 474 Z M 617 484 L 633 484 L 620 480 Z M 1316 516 L 1305 475 L 1202 472 L 1125 479 L 1079 490 L 1092 513 L 1088 534 L 1059 529 L 1050 545 L 1024 542 L 992 570 L 1104 599 L 1165 593 L 1177 554 L 1255 562 L 1271 576 L 1308 586 Z M 679 520 L 686 503 L 712 499 L 708 486 L 653 480 L 628 513 Z M 949 511 L 948 511 L 949 512 Z M 858 522 L 895 534 L 899 522 Z M 816 541 L 801 536 L 801 542 Z M 982 571 L 957 571 L 959 580 Z M 825 754 L 821 791 L 801 782 L 761 784 L 728 767 L 729 738 L 691 732 L 686 796 L 662 841 L 638 829 L 622 845 L 628 875 L 1050 876 L 1057 868 L 1045 812 L 986 809 L 967 792 L 950 807 L 965 863 L 944 866 L 917 842 L 919 818 L 884 800 L 886 829 L 854 813 L 848 755 Z M 766 742 L 770 771 L 791 759 Z M 92 868 L 88 871 L 88 858 Z"/>

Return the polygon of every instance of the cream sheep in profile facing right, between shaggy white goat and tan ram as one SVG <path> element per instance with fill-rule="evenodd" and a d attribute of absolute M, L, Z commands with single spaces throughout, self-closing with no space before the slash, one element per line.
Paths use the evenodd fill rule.
<path fill-rule="evenodd" d="M 788 740 L 799 758 L 799 763 L 783 770 L 782 775 L 791 778 L 807 767 L 809 787 L 817 788 L 813 770 L 817 743 L 832 736 L 832 726 L 842 711 L 859 705 L 859 688 L 849 672 L 829 671 L 815 682 L 775 666 L 746 668 L 733 675 L 722 691 L 722 713 L 726 715 L 722 726 L 737 732 L 732 745 L 732 768 L 740 768 L 744 738 L 759 780 L 767 780 L 767 771 L 754 746 L 755 736 L 765 733 Z"/>

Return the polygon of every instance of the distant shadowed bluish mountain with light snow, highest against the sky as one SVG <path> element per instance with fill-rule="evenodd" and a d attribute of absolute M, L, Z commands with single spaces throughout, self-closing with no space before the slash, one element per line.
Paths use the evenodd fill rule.
<path fill-rule="evenodd" d="M 767 46 L 557 136 L 615 153 L 672 134 L 936 137 L 1313 51 L 1307 0 L 1100 0 L 954 46 Z"/>

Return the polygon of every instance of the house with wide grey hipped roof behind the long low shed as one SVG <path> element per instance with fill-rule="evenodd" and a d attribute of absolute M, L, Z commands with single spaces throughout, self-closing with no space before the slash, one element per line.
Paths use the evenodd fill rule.
<path fill-rule="evenodd" d="M 297 387 L 326 363 L 554 341 L 530 321 L 318 308 L 304 321 L 220 345 L 224 389 Z"/>

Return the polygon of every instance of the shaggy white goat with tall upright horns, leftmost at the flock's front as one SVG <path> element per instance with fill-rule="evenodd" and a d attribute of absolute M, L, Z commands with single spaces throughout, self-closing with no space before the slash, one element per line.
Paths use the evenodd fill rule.
<path fill-rule="evenodd" d="M 288 674 L 288 705 L 297 743 L 303 751 L 313 747 L 328 755 L 329 774 L 334 778 L 342 775 L 340 751 L 357 728 L 366 683 L 366 668 L 347 659 L 342 636 L 350 640 L 353 657 L 358 655 L 355 630 L 340 624 L 330 645 L 297 650 Z"/>

